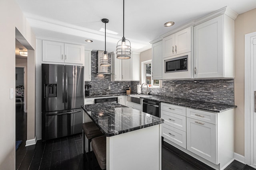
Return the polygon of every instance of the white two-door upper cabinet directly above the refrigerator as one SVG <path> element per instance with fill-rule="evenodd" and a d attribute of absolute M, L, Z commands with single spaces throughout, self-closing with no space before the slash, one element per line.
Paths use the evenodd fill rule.
<path fill-rule="evenodd" d="M 43 40 L 42 61 L 84 64 L 84 46 Z"/>

